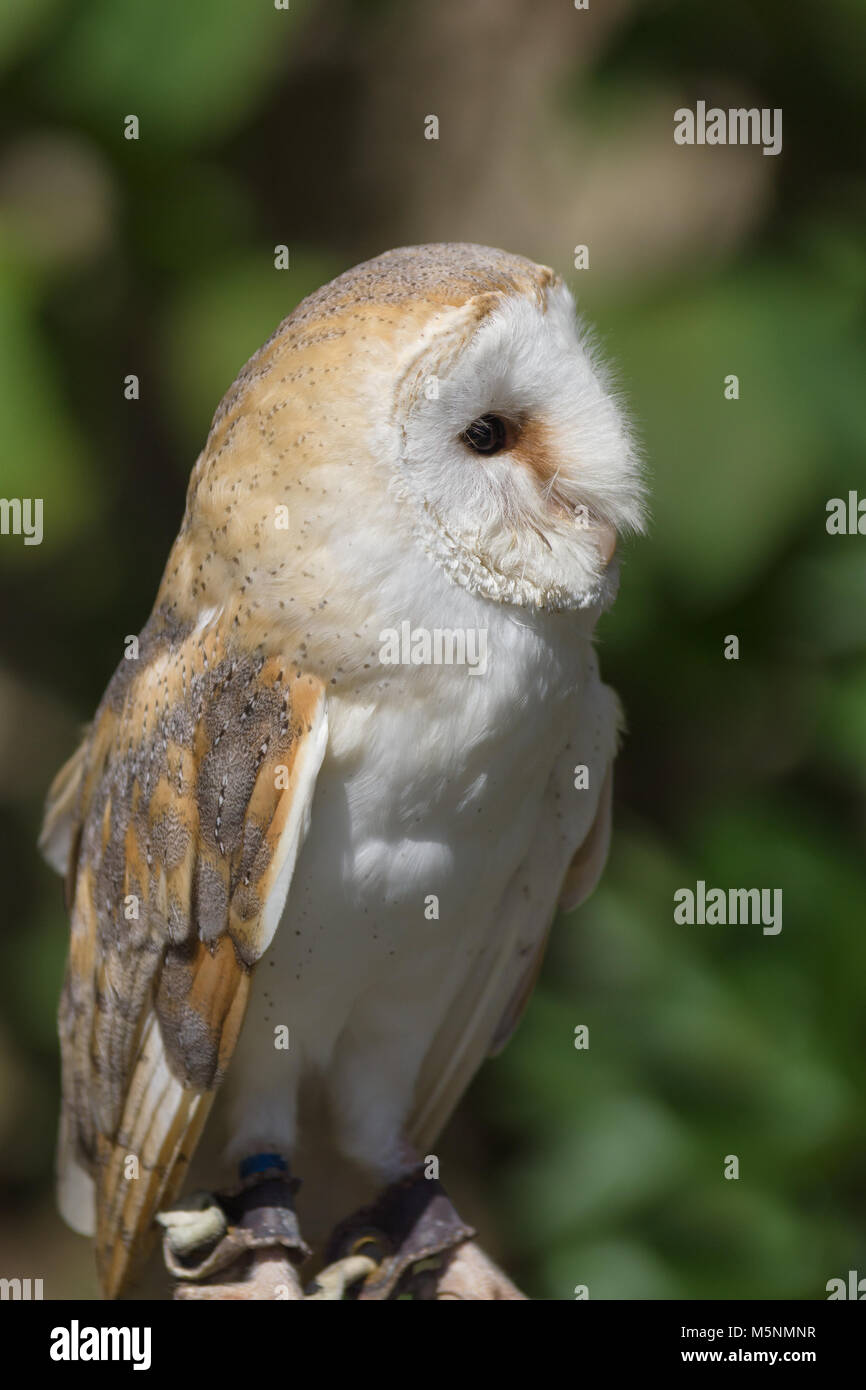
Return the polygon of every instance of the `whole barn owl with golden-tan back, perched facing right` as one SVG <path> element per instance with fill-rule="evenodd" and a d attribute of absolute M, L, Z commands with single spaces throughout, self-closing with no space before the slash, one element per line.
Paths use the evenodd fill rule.
<path fill-rule="evenodd" d="M 601 874 L 619 713 L 592 638 L 642 517 L 569 289 L 523 257 L 388 252 L 243 367 L 46 809 L 58 1201 L 106 1295 L 157 1218 L 211 1283 L 227 1240 L 321 1265 L 356 1208 L 409 1233 L 402 1264 L 332 1247 L 373 1286 L 471 1245 L 431 1147 Z M 229 1197 L 185 1205 L 193 1177 Z"/>

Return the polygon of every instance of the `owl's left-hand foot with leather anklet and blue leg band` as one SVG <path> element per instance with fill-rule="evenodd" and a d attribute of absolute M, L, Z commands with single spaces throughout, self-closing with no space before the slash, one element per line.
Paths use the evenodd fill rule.
<path fill-rule="evenodd" d="M 297 1227 L 300 1186 L 275 1155 L 242 1168 L 239 1187 L 195 1193 L 158 1215 L 175 1298 L 302 1298 L 296 1266 L 310 1254 Z M 220 1282 L 217 1277 L 220 1276 Z"/>

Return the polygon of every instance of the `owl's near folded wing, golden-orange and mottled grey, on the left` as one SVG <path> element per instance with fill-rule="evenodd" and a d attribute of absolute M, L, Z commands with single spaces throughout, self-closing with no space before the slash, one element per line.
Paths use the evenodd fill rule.
<path fill-rule="evenodd" d="M 96 1236 L 107 1297 L 183 1180 L 327 745 L 321 681 L 232 648 L 227 621 L 152 624 L 56 778 L 42 837 L 71 912 L 58 1202 Z"/>

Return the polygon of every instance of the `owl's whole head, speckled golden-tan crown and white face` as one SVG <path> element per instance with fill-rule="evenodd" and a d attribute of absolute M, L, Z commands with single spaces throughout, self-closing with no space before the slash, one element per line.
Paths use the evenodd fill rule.
<path fill-rule="evenodd" d="M 256 467 L 239 473 L 239 457 Z M 250 359 L 214 417 L 188 524 L 236 553 L 236 517 L 264 502 L 254 548 L 271 584 L 285 573 L 267 541 L 277 500 L 303 573 L 329 550 L 334 581 L 353 521 L 370 566 L 399 532 L 470 592 L 548 612 L 606 606 L 617 535 L 644 523 L 638 453 L 567 286 L 463 243 L 357 265 Z"/>

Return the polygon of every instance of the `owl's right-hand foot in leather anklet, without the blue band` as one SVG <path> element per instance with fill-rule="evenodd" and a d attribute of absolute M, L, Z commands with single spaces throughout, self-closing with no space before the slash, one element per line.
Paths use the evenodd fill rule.
<path fill-rule="evenodd" d="M 523 1300 L 474 1234 L 442 1186 L 418 1168 L 386 1187 L 371 1207 L 341 1222 L 328 1245 L 331 1264 L 309 1297 Z M 366 1275 L 353 1264 L 360 1259 L 373 1265 Z M 345 1277 L 346 1272 L 352 1277 Z"/>

